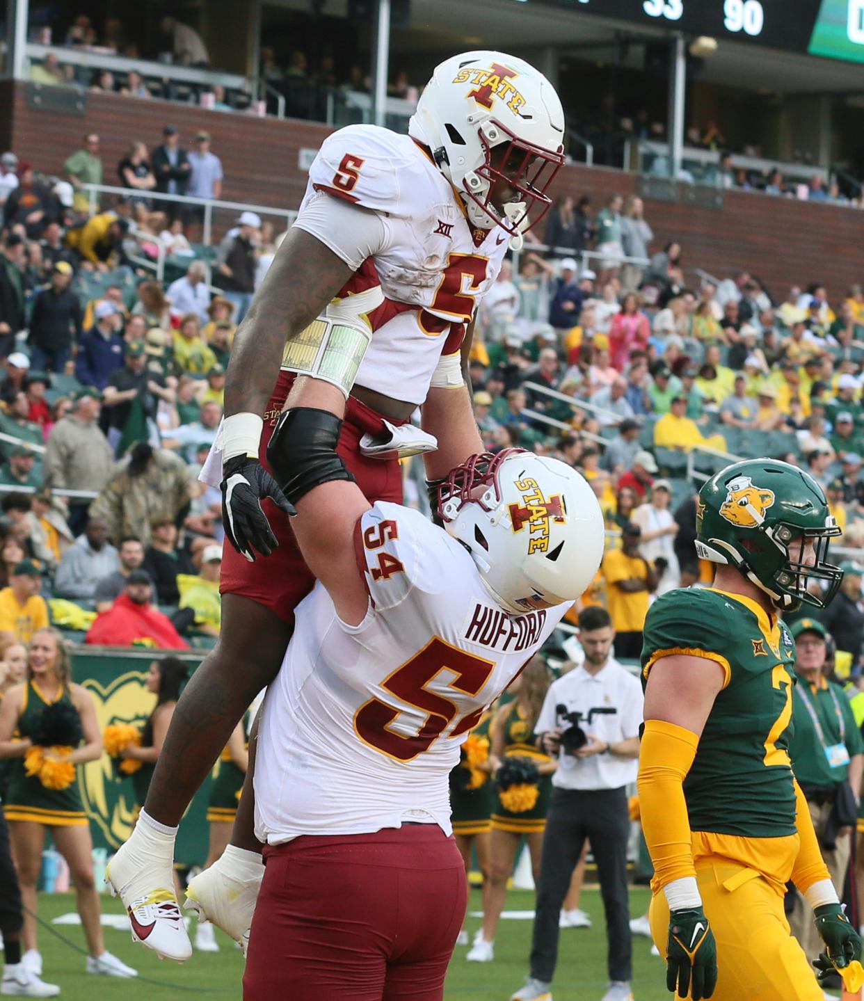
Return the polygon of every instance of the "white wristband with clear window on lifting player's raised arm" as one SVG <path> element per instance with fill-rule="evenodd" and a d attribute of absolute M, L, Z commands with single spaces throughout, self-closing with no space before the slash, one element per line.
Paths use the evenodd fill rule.
<path fill-rule="evenodd" d="M 282 367 L 323 379 L 347 399 L 372 336 L 367 314 L 382 302 L 378 286 L 333 299 L 322 315 L 288 341 Z"/>

